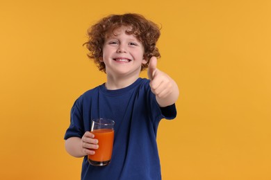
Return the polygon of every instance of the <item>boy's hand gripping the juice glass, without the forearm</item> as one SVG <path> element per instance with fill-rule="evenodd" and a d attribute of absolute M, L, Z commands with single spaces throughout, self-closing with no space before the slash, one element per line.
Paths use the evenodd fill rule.
<path fill-rule="evenodd" d="M 99 148 L 98 140 L 95 138 L 94 134 L 90 132 L 85 132 L 81 138 L 82 151 L 84 154 L 91 155 L 95 154 L 94 150 Z"/>

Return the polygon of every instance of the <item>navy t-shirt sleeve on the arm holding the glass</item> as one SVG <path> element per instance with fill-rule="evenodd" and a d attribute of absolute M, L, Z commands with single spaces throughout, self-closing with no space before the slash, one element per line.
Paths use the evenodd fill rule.
<path fill-rule="evenodd" d="M 78 98 L 71 109 L 70 125 L 65 133 L 64 139 L 70 137 L 83 136 L 83 110 L 82 110 L 82 97 Z"/>

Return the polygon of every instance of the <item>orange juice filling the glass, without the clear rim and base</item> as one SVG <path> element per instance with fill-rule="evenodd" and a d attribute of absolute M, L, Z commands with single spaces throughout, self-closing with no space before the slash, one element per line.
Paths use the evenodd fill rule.
<path fill-rule="evenodd" d="M 95 154 L 88 155 L 88 158 L 92 161 L 109 161 L 113 149 L 114 130 L 95 129 L 92 131 L 92 134 L 98 139 L 99 148 L 95 150 Z"/>

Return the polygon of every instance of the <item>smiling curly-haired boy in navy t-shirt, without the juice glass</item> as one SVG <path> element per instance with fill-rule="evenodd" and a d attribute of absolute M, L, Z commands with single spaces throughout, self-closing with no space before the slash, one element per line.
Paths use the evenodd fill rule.
<path fill-rule="evenodd" d="M 162 118 L 176 117 L 179 89 L 156 69 L 158 26 L 137 14 L 110 15 L 92 26 L 88 35 L 88 56 L 107 80 L 74 102 L 65 134 L 67 152 L 84 156 L 81 179 L 161 179 L 156 133 Z M 147 68 L 149 80 L 139 78 Z M 99 148 L 90 132 L 94 118 L 115 121 L 112 159 L 104 167 L 88 163 L 88 154 Z"/>

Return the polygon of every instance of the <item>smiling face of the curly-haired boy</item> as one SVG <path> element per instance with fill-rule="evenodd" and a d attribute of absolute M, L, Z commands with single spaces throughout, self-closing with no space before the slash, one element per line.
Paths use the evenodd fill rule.
<path fill-rule="evenodd" d="M 134 35 L 125 33 L 130 27 L 122 26 L 111 33 L 104 42 L 101 62 L 106 64 L 107 75 L 138 76 L 144 59 L 144 46 Z"/>

